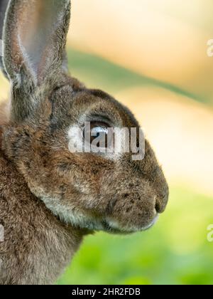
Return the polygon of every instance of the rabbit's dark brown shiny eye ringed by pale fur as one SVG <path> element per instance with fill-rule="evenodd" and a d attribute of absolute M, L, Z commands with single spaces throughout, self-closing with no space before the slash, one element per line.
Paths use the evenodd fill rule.
<path fill-rule="evenodd" d="M 112 145 L 112 130 L 104 122 L 90 122 L 83 130 L 84 140 L 97 148 L 107 148 Z"/>

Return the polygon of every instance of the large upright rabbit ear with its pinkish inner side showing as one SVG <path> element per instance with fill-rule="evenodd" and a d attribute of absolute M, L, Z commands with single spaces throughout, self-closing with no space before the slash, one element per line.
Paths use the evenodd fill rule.
<path fill-rule="evenodd" d="M 65 72 L 69 23 L 70 0 L 10 0 L 3 31 L 3 61 L 16 97 L 12 99 L 15 120 L 26 118 L 38 104 L 35 97 L 29 100 L 29 94 L 38 95 L 42 90 L 45 96 Z"/>

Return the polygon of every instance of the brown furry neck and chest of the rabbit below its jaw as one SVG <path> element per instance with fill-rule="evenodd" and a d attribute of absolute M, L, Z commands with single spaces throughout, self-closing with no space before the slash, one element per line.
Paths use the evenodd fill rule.
<path fill-rule="evenodd" d="M 54 283 L 85 234 L 53 216 L 1 150 L 0 224 L 0 284 Z"/>

